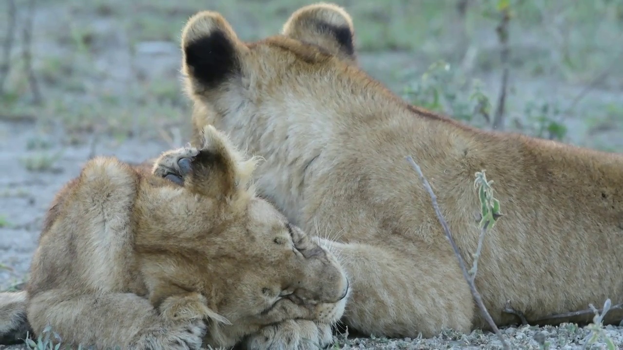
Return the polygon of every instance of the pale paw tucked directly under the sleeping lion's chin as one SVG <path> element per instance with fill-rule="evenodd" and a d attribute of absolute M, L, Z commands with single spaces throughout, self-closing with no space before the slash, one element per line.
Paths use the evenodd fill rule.
<path fill-rule="evenodd" d="M 266 326 L 249 336 L 246 349 L 254 350 L 317 350 L 325 349 L 333 343 L 333 333 L 329 324 L 318 324 L 302 319 L 288 320 L 274 326 Z"/>

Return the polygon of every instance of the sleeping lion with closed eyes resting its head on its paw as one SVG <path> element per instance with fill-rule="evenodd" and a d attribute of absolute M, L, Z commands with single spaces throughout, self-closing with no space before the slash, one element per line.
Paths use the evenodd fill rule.
<path fill-rule="evenodd" d="M 153 174 L 89 161 L 47 214 L 27 290 L 0 295 L 0 331 L 25 310 L 34 333 L 49 324 L 98 349 L 331 341 L 348 292 L 340 265 L 255 197 L 254 158 L 204 133 L 201 149 L 164 153 Z"/>

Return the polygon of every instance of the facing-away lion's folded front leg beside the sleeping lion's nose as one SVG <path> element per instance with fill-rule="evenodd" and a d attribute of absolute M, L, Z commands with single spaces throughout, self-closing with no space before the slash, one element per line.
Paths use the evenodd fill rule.
<path fill-rule="evenodd" d="M 475 303 L 450 247 L 407 253 L 320 239 L 340 257 L 351 282 L 342 321 L 364 334 L 430 338 L 469 332 Z"/>

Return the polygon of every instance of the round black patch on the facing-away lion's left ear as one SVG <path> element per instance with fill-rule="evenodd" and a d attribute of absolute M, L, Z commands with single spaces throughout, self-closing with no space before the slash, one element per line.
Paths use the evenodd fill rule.
<path fill-rule="evenodd" d="M 189 73 L 207 88 L 215 88 L 240 68 L 232 43 L 221 31 L 191 42 L 184 49 Z"/>

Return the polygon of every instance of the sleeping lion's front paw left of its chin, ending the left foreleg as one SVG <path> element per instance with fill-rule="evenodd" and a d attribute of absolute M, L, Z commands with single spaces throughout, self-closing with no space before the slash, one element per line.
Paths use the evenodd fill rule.
<path fill-rule="evenodd" d="M 206 323 L 202 319 L 169 324 L 141 336 L 141 339 L 128 347 L 135 350 L 199 350 L 206 334 Z"/>

